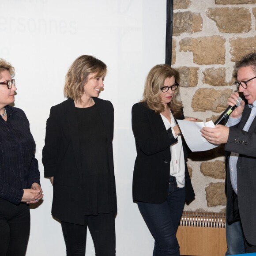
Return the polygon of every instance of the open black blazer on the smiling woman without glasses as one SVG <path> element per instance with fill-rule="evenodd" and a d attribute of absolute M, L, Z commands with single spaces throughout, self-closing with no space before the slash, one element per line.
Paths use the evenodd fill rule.
<path fill-rule="evenodd" d="M 117 196 L 112 146 L 113 105 L 109 101 L 93 99 L 106 131 L 109 181 L 113 196 L 113 211 L 116 214 Z M 52 215 L 64 222 L 83 225 L 83 175 L 79 149 L 79 128 L 75 103 L 71 99 L 53 106 L 50 110 L 46 124 L 42 162 L 45 177 L 54 177 Z"/>

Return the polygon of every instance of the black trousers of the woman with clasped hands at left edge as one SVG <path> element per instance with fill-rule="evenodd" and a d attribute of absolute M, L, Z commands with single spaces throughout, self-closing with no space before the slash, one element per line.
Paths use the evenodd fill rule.
<path fill-rule="evenodd" d="M 0 256 L 25 256 L 29 233 L 29 205 L 0 198 Z"/>

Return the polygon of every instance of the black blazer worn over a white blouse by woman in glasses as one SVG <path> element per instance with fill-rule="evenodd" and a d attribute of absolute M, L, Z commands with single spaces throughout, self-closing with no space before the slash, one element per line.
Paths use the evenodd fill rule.
<path fill-rule="evenodd" d="M 184 119 L 184 115 L 179 119 Z M 163 203 L 168 195 L 170 175 L 170 145 L 177 142 L 160 114 L 139 102 L 132 107 L 132 131 L 136 140 L 137 157 L 134 165 L 132 194 L 134 201 Z M 171 138 L 169 137 L 171 136 Z M 185 161 L 186 201 L 194 199 L 188 173 L 187 146 L 182 139 Z"/>

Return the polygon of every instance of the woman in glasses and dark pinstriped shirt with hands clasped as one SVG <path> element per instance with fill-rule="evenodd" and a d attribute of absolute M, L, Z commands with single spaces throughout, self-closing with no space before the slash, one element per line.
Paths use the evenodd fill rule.
<path fill-rule="evenodd" d="M 29 204 L 43 197 L 35 142 L 25 113 L 14 102 L 14 68 L 0 59 L 0 255 L 24 256 Z"/>

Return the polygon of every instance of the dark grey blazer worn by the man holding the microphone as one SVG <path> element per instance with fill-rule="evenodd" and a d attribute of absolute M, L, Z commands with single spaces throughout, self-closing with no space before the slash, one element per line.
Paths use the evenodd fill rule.
<path fill-rule="evenodd" d="M 249 244 L 256 246 L 256 118 L 248 132 L 242 131 L 251 109 L 245 105 L 241 121 L 230 127 L 225 150 L 239 153 L 237 160 L 237 202 L 245 234 Z M 229 156 L 227 157 L 227 219 L 235 220 L 236 195 L 230 181 Z"/>

